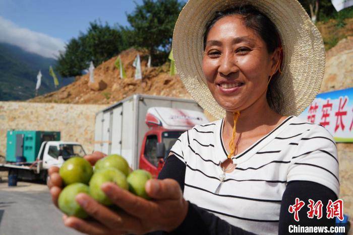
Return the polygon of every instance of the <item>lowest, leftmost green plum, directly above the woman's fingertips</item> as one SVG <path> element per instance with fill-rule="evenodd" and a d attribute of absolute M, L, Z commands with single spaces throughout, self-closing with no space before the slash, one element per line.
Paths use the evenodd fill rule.
<path fill-rule="evenodd" d="M 88 214 L 75 201 L 75 197 L 79 193 L 89 194 L 88 186 L 82 183 L 73 183 L 63 189 L 57 202 L 59 208 L 68 216 L 76 216 L 84 219 L 88 217 Z"/>

